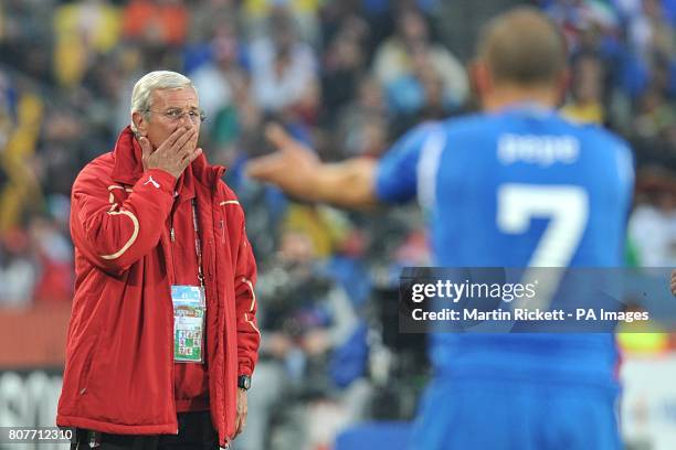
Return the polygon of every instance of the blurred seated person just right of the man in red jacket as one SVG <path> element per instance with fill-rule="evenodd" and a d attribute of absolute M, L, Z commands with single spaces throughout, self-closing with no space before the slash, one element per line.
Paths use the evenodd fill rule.
<path fill-rule="evenodd" d="M 282 235 L 276 260 L 258 277 L 258 318 L 266 339 L 249 392 L 247 427 L 237 443 L 243 450 L 271 448 L 272 411 L 289 409 L 275 405 L 298 397 L 325 398 L 335 390 L 321 367 L 328 352 L 351 335 L 357 317 L 345 291 L 321 275 L 317 256 L 309 236 L 289 228 Z M 299 413 L 303 428 L 313 417 L 314 406 L 308 408 Z M 346 415 L 357 417 L 353 413 Z M 310 427 L 295 436 L 293 444 L 316 448 L 307 442 L 315 433 Z"/>

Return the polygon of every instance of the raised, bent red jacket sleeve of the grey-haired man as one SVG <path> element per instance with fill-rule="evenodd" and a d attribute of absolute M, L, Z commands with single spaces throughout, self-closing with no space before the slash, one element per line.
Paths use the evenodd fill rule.
<path fill-rule="evenodd" d="M 113 191 L 123 186 L 83 172 L 73 185 L 73 244 L 94 266 L 114 276 L 123 274 L 158 245 L 175 184 L 171 174 L 150 169 L 118 202 Z"/>

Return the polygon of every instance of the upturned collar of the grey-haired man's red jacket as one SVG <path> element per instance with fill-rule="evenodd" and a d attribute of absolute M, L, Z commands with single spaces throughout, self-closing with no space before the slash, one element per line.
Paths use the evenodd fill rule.
<path fill-rule="evenodd" d="M 141 162 L 141 148 L 130 127 L 126 127 L 115 142 L 113 150 L 115 167 L 113 168 L 113 181 L 116 183 L 134 185 L 144 174 Z M 222 165 L 210 165 L 204 153 L 200 154 L 192 164 L 186 169 L 177 182 L 179 197 L 191 199 L 194 196 L 194 182 L 199 182 L 211 190 L 215 190 L 218 181 L 223 176 L 225 168 Z"/>

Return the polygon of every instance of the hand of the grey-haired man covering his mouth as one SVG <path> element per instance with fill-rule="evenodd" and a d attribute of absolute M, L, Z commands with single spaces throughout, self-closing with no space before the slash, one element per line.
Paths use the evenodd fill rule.
<path fill-rule="evenodd" d="M 202 149 L 197 148 L 197 140 L 196 127 L 179 127 L 155 151 L 148 138 L 139 138 L 144 169 L 161 169 L 179 178 L 183 170 L 202 154 Z"/>

